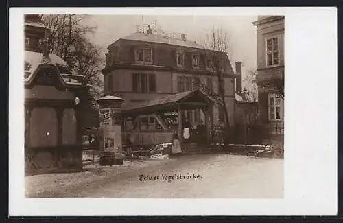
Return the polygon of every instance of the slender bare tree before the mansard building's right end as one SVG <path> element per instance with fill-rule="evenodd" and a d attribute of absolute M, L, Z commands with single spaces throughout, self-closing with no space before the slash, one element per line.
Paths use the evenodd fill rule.
<path fill-rule="evenodd" d="M 229 115 L 224 95 L 223 59 L 228 60 L 228 55 L 231 56 L 230 35 L 227 30 L 212 27 L 211 33 L 206 34 L 206 37 L 203 40 L 203 45 L 206 51 L 206 57 L 209 58 L 210 61 L 213 61 L 211 64 L 206 64 L 206 67 L 210 67 L 216 73 L 218 82 L 218 93 L 211 91 L 206 86 L 206 84 L 202 83 L 197 72 L 196 86 L 213 97 L 213 99 L 215 99 L 215 102 L 217 102 L 216 104 L 219 104 L 224 108 L 225 127 L 227 134 L 229 134 Z M 225 138 L 226 141 L 228 141 L 228 135 L 226 135 Z"/>

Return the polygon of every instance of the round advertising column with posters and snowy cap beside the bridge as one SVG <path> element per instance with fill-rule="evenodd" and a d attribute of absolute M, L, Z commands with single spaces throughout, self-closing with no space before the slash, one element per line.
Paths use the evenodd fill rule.
<path fill-rule="evenodd" d="M 121 103 L 123 99 L 105 96 L 97 99 L 99 104 L 100 165 L 122 165 Z"/>

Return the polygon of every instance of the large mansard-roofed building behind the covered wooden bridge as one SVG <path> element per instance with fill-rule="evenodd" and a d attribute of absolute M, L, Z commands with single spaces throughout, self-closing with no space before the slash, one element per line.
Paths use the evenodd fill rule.
<path fill-rule="evenodd" d="M 218 93 L 218 78 L 213 70 L 214 54 L 187 40 L 183 34 L 180 38 L 171 38 L 147 30 L 147 33 L 136 32 L 120 38 L 108 46 L 106 67 L 103 70 L 105 95 L 121 97 L 125 99 L 123 106 L 127 106 L 128 103 L 191 91 L 196 87 L 196 77 L 208 89 Z M 233 125 L 235 78 L 241 83 L 241 73 L 234 73 L 226 54 L 220 53 L 216 58 L 224 73 L 226 105 L 229 122 Z M 201 110 L 191 110 L 185 115 L 193 126 L 204 121 Z M 210 119 L 211 125 L 224 122 L 224 110 L 213 106 Z M 147 122 L 147 125 L 141 125 L 147 126 L 147 130 L 156 128 L 154 117 L 142 117 L 142 121 Z M 132 128 L 130 121 L 126 128 Z"/>

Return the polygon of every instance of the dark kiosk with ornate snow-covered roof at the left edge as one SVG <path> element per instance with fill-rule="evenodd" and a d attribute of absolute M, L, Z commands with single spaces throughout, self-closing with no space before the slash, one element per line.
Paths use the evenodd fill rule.
<path fill-rule="evenodd" d="M 87 86 L 51 54 L 49 30 L 25 16 L 25 174 L 82 170 L 82 123 Z"/>

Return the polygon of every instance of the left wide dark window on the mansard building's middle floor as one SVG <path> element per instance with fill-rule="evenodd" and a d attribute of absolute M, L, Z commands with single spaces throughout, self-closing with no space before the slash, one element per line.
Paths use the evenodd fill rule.
<path fill-rule="evenodd" d="M 151 73 L 132 73 L 132 93 L 155 93 L 156 75 Z"/>

